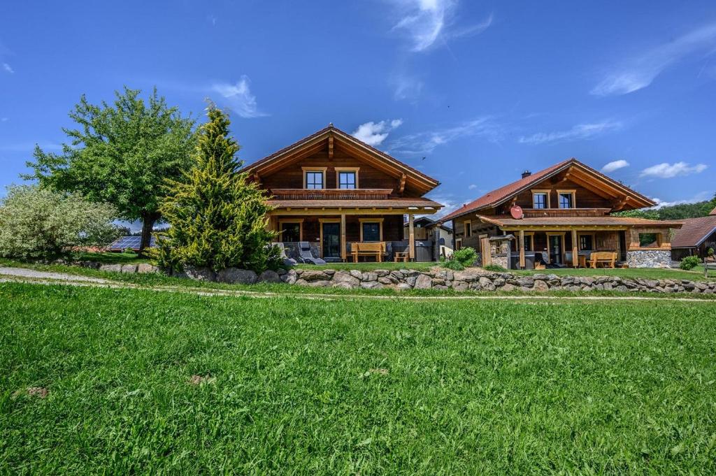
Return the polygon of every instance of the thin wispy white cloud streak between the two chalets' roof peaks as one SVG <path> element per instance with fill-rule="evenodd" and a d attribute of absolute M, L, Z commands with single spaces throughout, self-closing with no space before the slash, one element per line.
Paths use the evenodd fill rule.
<path fill-rule="evenodd" d="M 438 147 L 463 137 L 483 137 L 490 142 L 499 142 L 502 129 L 495 125 L 490 117 L 463 122 L 447 129 L 418 132 L 410 134 L 390 143 L 389 150 L 407 155 L 429 154 Z"/>

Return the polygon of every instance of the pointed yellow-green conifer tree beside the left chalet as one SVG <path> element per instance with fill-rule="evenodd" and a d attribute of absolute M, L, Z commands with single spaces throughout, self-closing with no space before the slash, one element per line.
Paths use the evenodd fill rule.
<path fill-rule="evenodd" d="M 261 272 L 276 268 L 279 254 L 269 246 L 275 233 L 266 230 L 266 192 L 239 172 L 239 145 L 228 136 L 229 118 L 208 107 L 208 122 L 198 133 L 195 164 L 185 180 L 170 180 L 160 210 L 170 223 L 154 251 L 160 266 L 214 271 L 243 268 Z"/>

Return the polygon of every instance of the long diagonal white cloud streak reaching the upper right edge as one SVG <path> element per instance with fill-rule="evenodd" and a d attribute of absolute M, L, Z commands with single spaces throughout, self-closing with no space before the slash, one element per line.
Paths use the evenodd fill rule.
<path fill-rule="evenodd" d="M 652 84 L 664 69 L 679 62 L 690 54 L 706 52 L 711 54 L 716 47 L 716 23 L 691 31 L 642 56 L 630 58 L 624 66 L 607 75 L 591 90 L 596 96 L 629 94 Z"/>

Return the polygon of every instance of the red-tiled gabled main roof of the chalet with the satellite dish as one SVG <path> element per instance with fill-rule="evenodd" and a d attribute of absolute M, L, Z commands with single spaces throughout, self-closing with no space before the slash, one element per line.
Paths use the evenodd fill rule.
<path fill-rule="evenodd" d="M 565 170 L 569 170 L 573 167 L 580 170 L 581 173 L 589 175 L 590 178 L 594 178 L 595 180 L 599 180 L 602 183 L 608 184 L 610 188 L 618 190 L 619 192 L 623 193 L 625 197 L 628 196 L 635 205 L 638 205 L 634 208 L 643 208 L 656 205 L 653 200 L 645 197 L 640 193 L 635 192 L 626 185 L 622 185 L 616 180 L 612 180 L 603 173 L 594 170 L 588 165 L 585 165 L 582 162 L 579 162 L 579 160 L 576 160 L 574 157 L 572 157 L 569 160 L 564 160 L 563 162 L 559 162 L 558 164 L 551 165 L 544 170 L 540 170 L 539 172 L 533 173 L 532 175 L 528 175 L 525 178 L 521 178 L 520 180 L 516 180 L 513 183 L 508 183 L 508 185 L 504 185 L 503 187 L 496 188 L 495 190 L 485 193 L 485 195 L 481 196 L 480 198 L 477 198 L 476 200 L 473 200 L 472 202 L 463 205 L 461 208 L 458 208 L 458 210 L 455 210 L 453 213 L 446 215 L 442 218 L 442 221 L 453 220 L 453 218 L 465 215 L 465 213 L 481 210 L 483 208 L 493 208 L 498 205 L 501 205 L 502 203 L 505 203 L 506 201 L 513 198 L 515 195 L 518 195 L 518 193 L 521 193 L 524 190 L 528 190 L 529 188 L 533 187 L 534 185 L 537 185 L 543 180 L 547 180 L 548 178 L 551 178 L 554 175 L 557 175 L 558 173 L 561 173 Z"/>

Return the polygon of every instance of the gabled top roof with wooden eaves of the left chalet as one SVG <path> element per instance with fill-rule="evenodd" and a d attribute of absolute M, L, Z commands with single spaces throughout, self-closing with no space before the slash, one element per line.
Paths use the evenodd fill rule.
<path fill-rule="evenodd" d="M 377 168 L 382 168 L 384 172 L 394 175 L 396 178 L 400 179 L 402 174 L 405 174 L 406 181 L 417 190 L 422 191 L 422 193 L 427 193 L 437 187 L 437 185 L 440 185 L 440 182 L 434 178 L 425 175 L 419 170 L 415 170 L 405 162 L 401 162 L 381 150 L 377 150 L 362 140 L 356 139 L 332 124 L 294 142 L 288 147 L 284 147 L 271 155 L 263 157 L 261 160 L 246 165 L 246 167 L 243 167 L 242 172 L 248 172 L 250 174 L 258 173 L 259 175 L 267 171 L 273 173 L 295 160 L 306 157 L 306 154 L 310 155 L 321 150 L 324 147 L 324 142 L 328 144 L 329 140 L 333 140 L 342 147 L 346 147 L 348 150 L 354 152 L 358 160 L 371 162 L 372 165 L 376 165 Z M 329 145 L 325 145 L 325 147 L 329 147 Z"/>

